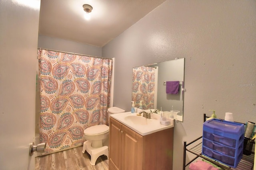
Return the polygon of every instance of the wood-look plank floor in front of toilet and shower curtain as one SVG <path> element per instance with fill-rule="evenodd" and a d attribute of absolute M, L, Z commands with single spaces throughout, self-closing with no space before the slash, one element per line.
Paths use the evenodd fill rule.
<path fill-rule="evenodd" d="M 100 156 L 95 166 L 90 164 L 90 154 L 83 147 L 36 157 L 36 170 L 108 170 L 108 158 Z"/>

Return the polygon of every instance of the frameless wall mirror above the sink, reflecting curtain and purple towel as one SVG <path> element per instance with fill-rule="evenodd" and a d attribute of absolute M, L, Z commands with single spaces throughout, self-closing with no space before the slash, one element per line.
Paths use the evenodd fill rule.
<path fill-rule="evenodd" d="M 140 101 L 143 101 L 142 109 L 162 107 L 162 111 L 172 111 L 176 120 L 183 121 L 184 63 L 184 58 L 176 58 L 132 68 L 132 101 L 135 107 L 139 108 Z M 174 83 L 174 81 L 178 83 L 176 84 L 178 92 L 166 93 L 166 84 L 167 91 L 170 91 L 170 82 Z"/>

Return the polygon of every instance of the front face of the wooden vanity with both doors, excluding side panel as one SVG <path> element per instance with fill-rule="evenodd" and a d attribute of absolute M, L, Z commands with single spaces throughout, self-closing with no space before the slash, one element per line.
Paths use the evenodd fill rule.
<path fill-rule="evenodd" d="M 109 170 L 142 170 L 143 138 L 110 117 Z"/>

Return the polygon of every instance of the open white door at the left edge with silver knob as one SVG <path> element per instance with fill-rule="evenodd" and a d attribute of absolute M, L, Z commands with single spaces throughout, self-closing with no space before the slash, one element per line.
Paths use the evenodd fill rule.
<path fill-rule="evenodd" d="M 35 135 L 39 11 L 40 0 L 0 0 L 1 170 L 35 168 L 29 144 Z"/>

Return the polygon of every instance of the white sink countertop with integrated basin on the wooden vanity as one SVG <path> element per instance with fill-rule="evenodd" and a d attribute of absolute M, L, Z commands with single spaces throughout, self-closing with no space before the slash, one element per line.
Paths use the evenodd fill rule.
<path fill-rule="evenodd" d="M 125 112 L 112 114 L 110 117 L 116 119 L 130 129 L 142 136 L 174 127 L 174 119 L 169 119 L 170 125 L 160 124 L 160 115 L 151 113 L 151 119 L 147 119 L 137 113 Z"/>

